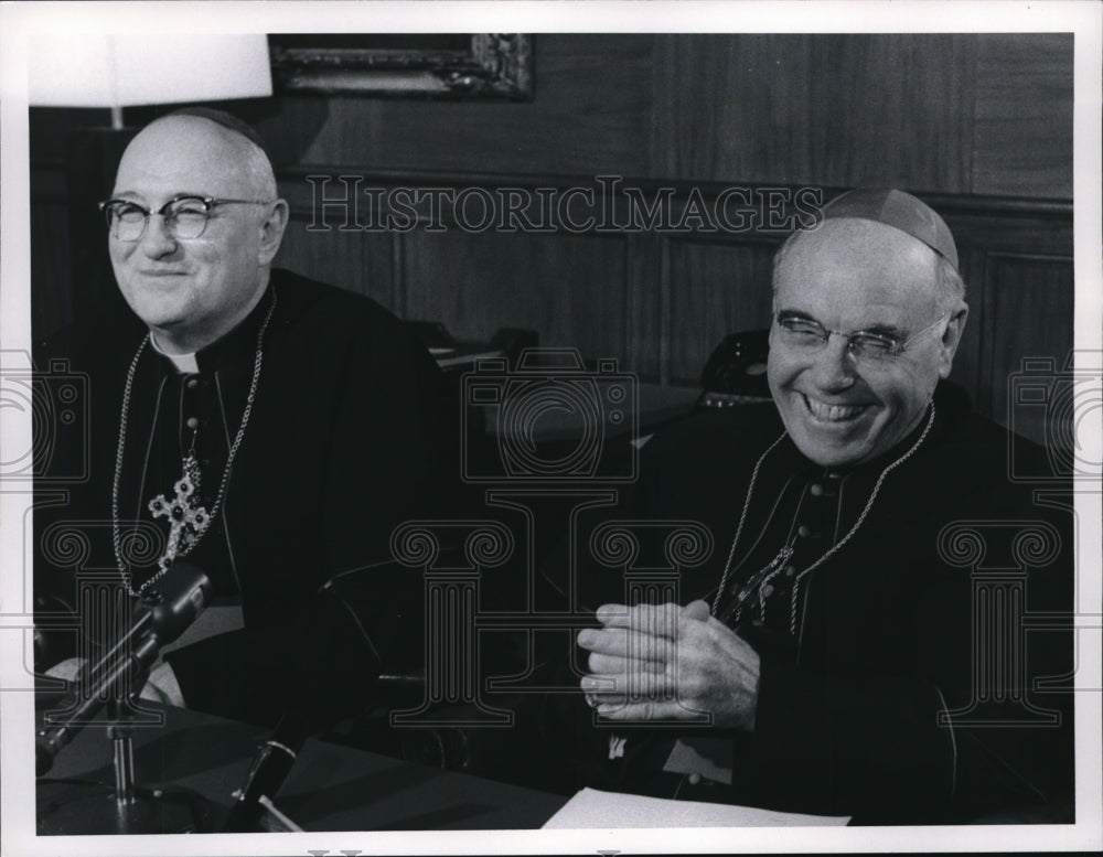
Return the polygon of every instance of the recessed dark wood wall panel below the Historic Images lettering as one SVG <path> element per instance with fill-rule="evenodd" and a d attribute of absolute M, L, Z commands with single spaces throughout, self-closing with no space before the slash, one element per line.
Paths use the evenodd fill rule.
<path fill-rule="evenodd" d="M 403 243 L 407 315 L 443 322 L 460 339 L 529 328 L 540 345 L 577 347 L 627 366 L 623 235 L 451 231 Z"/>

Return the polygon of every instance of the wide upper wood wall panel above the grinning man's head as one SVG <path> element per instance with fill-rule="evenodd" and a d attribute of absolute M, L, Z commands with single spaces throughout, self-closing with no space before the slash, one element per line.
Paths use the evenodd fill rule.
<path fill-rule="evenodd" d="M 682 35 L 656 41 L 666 174 L 961 192 L 971 35 Z M 662 72 L 660 74 L 658 72 Z"/>

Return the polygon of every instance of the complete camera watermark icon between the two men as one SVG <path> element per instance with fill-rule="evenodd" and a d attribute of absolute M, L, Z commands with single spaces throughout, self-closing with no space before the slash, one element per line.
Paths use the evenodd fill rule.
<path fill-rule="evenodd" d="M 575 349 L 526 349 L 510 369 L 484 360 L 461 379 L 462 475 L 470 482 L 632 482 L 639 436 L 636 378 L 615 360 L 586 367 Z M 481 411 L 496 454 L 470 436 Z M 624 442 L 611 443 L 617 438 Z"/>

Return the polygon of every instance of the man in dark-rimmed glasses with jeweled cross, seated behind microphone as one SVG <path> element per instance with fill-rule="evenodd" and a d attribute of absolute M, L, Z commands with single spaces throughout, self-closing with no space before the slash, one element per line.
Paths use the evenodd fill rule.
<path fill-rule="evenodd" d="M 84 565 L 110 569 L 121 603 L 178 560 L 211 579 L 207 626 L 191 629 L 208 635 L 154 669 L 172 700 L 182 690 L 189 707 L 265 722 L 358 697 L 388 646 L 420 642 L 420 582 L 370 569 L 389 560 L 392 529 L 439 496 L 451 438 L 437 366 L 364 294 L 271 267 L 288 205 L 235 117 L 190 108 L 153 121 L 100 208 L 126 306 L 38 355 L 86 373 L 92 452 L 89 479 L 36 522 L 40 604 L 77 603 L 79 570 L 43 543 L 61 522 L 82 528 Z M 320 626 L 319 589 L 362 569 L 365 639 L 312 645 L 334 633 Z M 86 631 L 108 619 L 82 617 Z M 358 672 L 334 668 L 355 651 Z"/>

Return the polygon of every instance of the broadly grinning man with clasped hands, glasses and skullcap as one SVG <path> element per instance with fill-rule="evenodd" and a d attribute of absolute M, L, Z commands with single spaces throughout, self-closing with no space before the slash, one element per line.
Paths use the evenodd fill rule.
<path fill-rule="evenodd" d="M 706 525 L 713 556 L 684 606 L 604 603 L 578 634 L 606 785 L 858 823 L 1071 811 L 1071 633 L 1027 633 L 1068 628 L 1071 525 L 941 383 L 957 266 L 900 191 L 844 194 L 781 247 L 772 404 L 645 449 L 634 512 Z"/>

